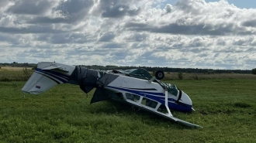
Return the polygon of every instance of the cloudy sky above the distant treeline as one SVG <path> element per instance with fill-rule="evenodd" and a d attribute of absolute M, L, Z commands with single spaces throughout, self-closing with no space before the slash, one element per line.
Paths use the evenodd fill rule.
<path fill-rule="evenodd" d="M 0 63 L 251 70 L 254 0 L 1 0 Z"/>

